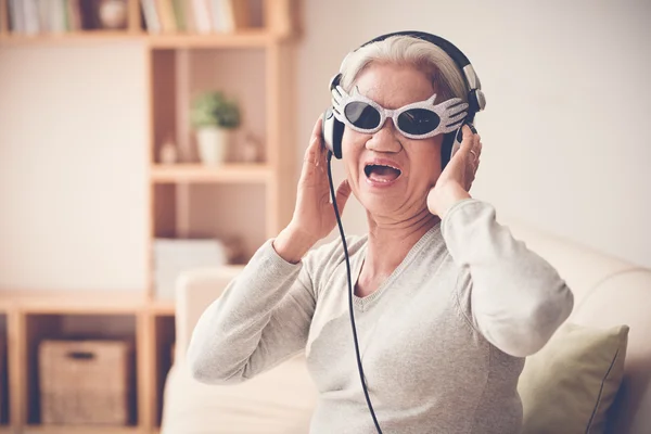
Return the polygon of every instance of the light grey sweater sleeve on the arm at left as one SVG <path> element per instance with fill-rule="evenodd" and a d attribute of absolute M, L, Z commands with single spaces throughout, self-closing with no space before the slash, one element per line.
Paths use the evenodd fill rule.
<path fill-rule="evenodd" d="M 303 261 L 290 264 L 268 240 L 199 319 L 188 348 L 192 375 L 232 384 L 305 348 L 316 297 Z"/>

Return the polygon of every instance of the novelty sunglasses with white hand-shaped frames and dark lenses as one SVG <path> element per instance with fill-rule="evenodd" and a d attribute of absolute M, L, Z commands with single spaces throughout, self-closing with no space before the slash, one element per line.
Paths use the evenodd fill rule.
<path fill-rule="evenodd" d="M 387 118 L 409 139 L 427 139 L 455 131 L 468 114 L 468 104 L 460 98 L 451 98 L 434 105 L 435 100 L 436 93 L 425 101 L 387 110 L 361 95 L 357 87 L 352 95 L 341 86 L 332 89 L 334 117 L 355 131 L 367 135 L 378 132 Z"/>

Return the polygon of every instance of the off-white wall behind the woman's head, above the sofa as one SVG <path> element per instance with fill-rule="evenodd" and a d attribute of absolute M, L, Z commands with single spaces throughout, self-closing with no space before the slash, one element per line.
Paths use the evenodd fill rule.
<path fill-rule="evenodd" d="M 304 23 L 299 155 L 349 50 L 388 31 L 434 33 L 465 52 L 487 95 L 471 193 L 498 216 L 651 267 L 650 1 L 306 0 Z M 350 205 L 344 227 L 362 233 Z"/>

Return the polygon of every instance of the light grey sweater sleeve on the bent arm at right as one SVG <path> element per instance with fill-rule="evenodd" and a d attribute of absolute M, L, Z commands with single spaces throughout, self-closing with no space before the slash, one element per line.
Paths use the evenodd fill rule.
<path fill-rule="evenodd" d="M 554 268 L 496 221 L 495 208 L 468 199 L 442 221 L 448 251 L 468 267 L 472 322 L 502 352 L 538 352 L 567 319 L 574 296 Z"/>

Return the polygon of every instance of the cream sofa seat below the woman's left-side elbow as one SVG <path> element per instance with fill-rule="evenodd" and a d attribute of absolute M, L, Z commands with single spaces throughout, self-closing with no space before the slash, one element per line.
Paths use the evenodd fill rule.
<path fill-rule="evenodd" d="M 234 385 L 207 385 L 176 363 L 165 384 L 161 434 L 305 434 L 317 390 L 303 355 Z"/>

